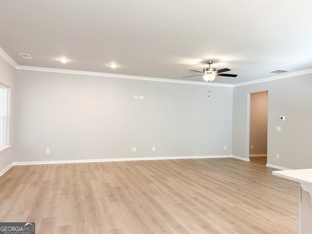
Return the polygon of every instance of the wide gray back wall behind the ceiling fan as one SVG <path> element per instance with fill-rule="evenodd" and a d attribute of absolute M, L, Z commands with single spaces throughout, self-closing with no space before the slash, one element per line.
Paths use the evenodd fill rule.
<path fill-rule="evenodd" d="M 232 154 L 231 87 L 17 70 L 16 103 L 15 161 Z"/>

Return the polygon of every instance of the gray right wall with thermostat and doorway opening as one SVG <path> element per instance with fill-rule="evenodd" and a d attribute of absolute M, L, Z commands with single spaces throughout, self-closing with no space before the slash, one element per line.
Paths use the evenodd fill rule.
<path fill-rule="evenodd" d="M 311 88 L 312 74 L 234 87 L 233 155 L 248 157 L 247 94 L 268 90 L 268 163 L 312 168 Z M 280 116 L 286 121 L 279 120 Z M 281 132 L 276 132 L 276 126 L 281 126 Z"/>

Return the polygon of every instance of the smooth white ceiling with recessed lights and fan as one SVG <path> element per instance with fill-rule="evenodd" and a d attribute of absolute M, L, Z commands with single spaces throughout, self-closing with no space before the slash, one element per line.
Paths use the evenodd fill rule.
<path fill-rule="evenodd" d="M 311 9 L 311 0 L 0 0 L 0 47 L 20 65 L 172 79 L 214 60 L 238 74 L 214 82 L 238 83 L 312 68 Z"/>

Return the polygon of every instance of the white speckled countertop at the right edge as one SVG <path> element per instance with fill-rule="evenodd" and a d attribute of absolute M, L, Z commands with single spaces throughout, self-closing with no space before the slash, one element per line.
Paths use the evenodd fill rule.
<path fill-rule="evenodd" d="M 312 186 L 312 169 L 273 171 L 272 174 Z"/>

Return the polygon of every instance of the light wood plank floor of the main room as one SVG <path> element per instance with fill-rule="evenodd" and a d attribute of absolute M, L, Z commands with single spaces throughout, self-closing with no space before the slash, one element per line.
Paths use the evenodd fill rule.
<path fill-rule="evenodd" d="M 296 234 L 297 183 L 234 158 L 14 166 L 0 221 L 37 234 Z"/>

